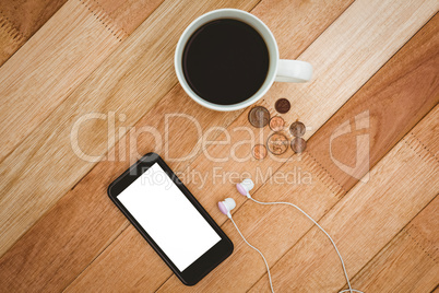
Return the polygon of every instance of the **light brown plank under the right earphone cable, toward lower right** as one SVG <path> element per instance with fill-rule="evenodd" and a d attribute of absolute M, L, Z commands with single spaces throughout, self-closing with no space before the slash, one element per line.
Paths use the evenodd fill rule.
<path fill-rule="evenodd" d="M 367 265 L 437 196 L 439 164 L 425 149 L 410 148 L 407 139 L 371 169 L 367 184 L 355 185 L 319 222 L 337 244 L 349 276 Z M 316 226 L 272 267 L 272 277 L 282 292 L 335 292 L 345 283 L 333 247 Z M 251 292 L 268 289 L 264 276 Z"/>

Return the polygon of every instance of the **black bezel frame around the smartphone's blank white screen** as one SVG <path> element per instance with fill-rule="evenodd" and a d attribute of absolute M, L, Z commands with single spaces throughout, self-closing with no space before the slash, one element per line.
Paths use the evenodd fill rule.
<path fill-rule="evenodd" d="M 216 243 L 204 255 L 198 258 L 183 271 L 180 271 L 174 262 L 167 257 L 167 255 L 161 249 L 161 247 L 154 242 L 154 239 L 146 233 L 146 231 L 139 224 L 135 218 L 123 207 L 118 200 L 118 196 L 130 186 L 139 176 L 146 172 L 153 164 L 157 163 L 171 180 L 177 185 L 181 192 L 188 198 L 188 200 L 201 213 L 204 220 L 212 226 L 212 228 L 220 235 L 221 241 Z M 119 208 L 119 210 L 127 216 L 131 224 L 139 231 L 139 233 L 146 239 L 146 242 L 153 247 L 158 256 L 168 265 L 174 273 L 186 285 L 194 285 L 201 279 L 203 279 L 209 272 L 216 268 L 222 261 L 232 255 L 234 245 L 227 235 L 221 230 L 216 222 L 210 216 L 204 208 L 198 202 L 189 189 L 180 181 L 177 175 L 170 169 L 170 167 L 163 161 L 163 159 L 156 153 L 147 153 L 142 156 L 135 164 L 130 166 L 122 175 L 114 180 L 108 186 L 108 196 L 112 202 Z"/>

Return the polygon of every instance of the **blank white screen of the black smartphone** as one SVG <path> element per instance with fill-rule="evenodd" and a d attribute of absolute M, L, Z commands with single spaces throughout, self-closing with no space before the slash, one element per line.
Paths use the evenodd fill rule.
<path fill-rule="evenodd" d="M 157 163 L 117 198 L 180 271 L 221 241 Z"/>

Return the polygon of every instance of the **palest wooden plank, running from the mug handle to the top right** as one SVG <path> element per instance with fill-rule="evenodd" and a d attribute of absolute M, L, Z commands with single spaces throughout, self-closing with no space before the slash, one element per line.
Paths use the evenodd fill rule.
<path fill-rule="evenodd" d="M 292 115 L 287 117 L 299 118 L 310 128 L 304 137 L 308 139 L 438 9 L 437 1 L 355 1 L 298 58 L 315 66 L 312 81 L 299 85 L 275 83 L 268 94 L 292 102 Z"/>

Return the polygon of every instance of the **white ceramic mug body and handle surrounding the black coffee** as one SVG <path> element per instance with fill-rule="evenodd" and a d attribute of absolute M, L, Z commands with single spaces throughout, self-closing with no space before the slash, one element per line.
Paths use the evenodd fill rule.
<path fill-rule="evenodd" d="M 270 66 L 266 73 L 265 81 L 261 87 L 251 97 L 247 98 L 237 104 L 233 105 L 218 105 L 203 99 L 201 96 L 195 94 L 186 81 L 183 70 L 182 70 L 182 55 L 187 42 L 191 35 L 197 32 L 198 28 L 204 24 L 222 19 L 233 19 L 247 23 L 253 27 L 264 39 L 265 45 L 269 50 Z M 257 16 L 237 9 L 220 9 L 207 12 L 197 20 L 194 20 L 182 33 L 180 39 L 178 40 L 175 58 L 174 58 L 175 69 L 177 73 L 178 81 L 180 82 L 182 89 L 186 93 L 200 105 L 214 109 L 214 110 L 237 110 L 245 108 L 258 99 L 260 99 L 270 89 L 274 81 L 281 82 L 307 82 L 312 75 L 312 66 L 305 61 L 298 60 L 283 60 L 278 58 L 277 43 L 274 39 L 273 34 L 270 32 L 269 27 Z"/>

